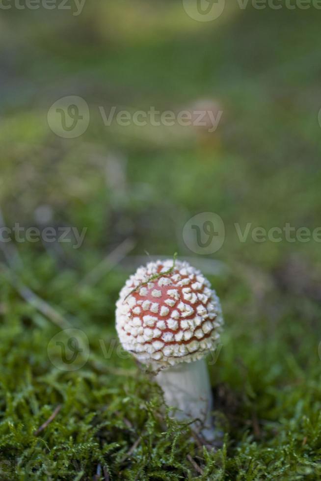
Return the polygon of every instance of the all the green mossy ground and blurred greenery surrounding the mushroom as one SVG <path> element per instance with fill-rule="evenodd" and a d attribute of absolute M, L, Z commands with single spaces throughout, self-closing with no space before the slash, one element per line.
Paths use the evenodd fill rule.
<path fill-rule="evenodd" d="M 313 10 L 229 7 L 209 24 L 168 1 L 88 3 L 79 17 L 3 12 L 5 223 L 33 226 L 45 205 L 52 225 L 87 233 L 79 250 L 20 243 L 21 262 L 1 263 L 1 481 L 321 479 L 320 243 L 242 243 L 234 227 L 320 226 L 319 37 Z M 76 139 L 46 120 L 66 95 L 90 106 Z M 212 135 L 106 127 L 98 109 L 177 111 L 200 99 L 223 110 Z M 209 277 L 226 321 L 209 367 L 225 433 L 214 450 L 164 414 L 160 389 L 133 359 L 116 349 L 106 357 L 101 345 L 117 346 L 114 304 L 131 255 L 190 256 L 183 227 L 208 211 L 226 229 L 209 258 L 224 266 Z M 85 282 L 127 238 L 136 242 L 128 259 Z M 21 284 L 86 333 L 79 371 L 51 364 L 59 327 Z"/>

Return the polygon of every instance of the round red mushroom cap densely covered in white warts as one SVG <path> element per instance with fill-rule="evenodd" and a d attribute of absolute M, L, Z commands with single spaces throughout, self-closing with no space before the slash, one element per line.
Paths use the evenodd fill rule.
<path fill-rule="evenodd" d="M 199 360 L 219 342 L 219 299 L 209 281 L 187 262 L 176 261 L 173 267 L 173 260 L 166 260 L 139 267 L 116 306 L 122 346 L 154 369 Z"/>

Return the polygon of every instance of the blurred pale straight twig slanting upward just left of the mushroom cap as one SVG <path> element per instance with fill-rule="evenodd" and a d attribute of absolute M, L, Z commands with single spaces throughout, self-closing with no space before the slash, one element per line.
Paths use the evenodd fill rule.
<path fill-rule="evenodd" d="M 134 249 L 135 241 L 133 239 L 126 239 L 119 244 L 112 252 L 110 252 L 105 259 L 103 259 L 98 266 L 94 267 L 85 277 L 79 282 L 78 288 L 84 286 L 93 286 L 109 272 L 113 267 L 117 266 L 129 252 Z"/>

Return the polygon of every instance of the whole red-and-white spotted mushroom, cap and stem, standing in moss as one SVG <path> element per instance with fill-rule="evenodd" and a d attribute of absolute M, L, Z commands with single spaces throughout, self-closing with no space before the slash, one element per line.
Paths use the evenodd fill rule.
<path fill-rule="evenodd" d="M 178 419 L 201 420 L 201 434 L 209 441 L 215 431 L 204 357 L 217 347 L 222 324 L 210 282 L 175 259 L 139 267 L 116 303 L 116 329 L 124 349 L 151 366 L 166 403 L 178 408 Z"/>

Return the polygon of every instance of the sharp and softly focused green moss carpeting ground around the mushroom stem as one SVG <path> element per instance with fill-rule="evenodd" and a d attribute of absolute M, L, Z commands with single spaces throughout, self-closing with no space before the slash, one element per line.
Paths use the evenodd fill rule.
<path fill-rule="evenodd" d="M 68 305 L 77 314 L 72 276 L 59 289 L 51 269 L 52 280 L 44 269 L 39 282 L 47 278 L 60 310 Z M 125 278 L 118 275 L 108 281 L 110 303 Z M 47 350 L 59 329 L 2 276 L 0 479 L 91 480 L 98 472 L 103 480 L 104 470 L 111 480 L 318 479 L 321 384 L 313 324 L 303 327 L 298 313 L 295 318 L 291 295 L 274 301 L 294 305 L 291 321 L 284 313 L 271 325 L 261 313 L 258 322 L 233 293 L 238 283 L 247 305 L 256 306 L 241 279 L 213 280 L 219 294 L 229 286 L 223 348 L 214 365 L 209 359 L 217 423 L 225 432 L 217 450 L 198 446 L 188 425 L 168 417 L 153 377 L 119 347 L 104 282 L 86 288 L 81 316 L 73 319 L 89 339 L 89 358 L 77 371 L 61 371 Z"/>

